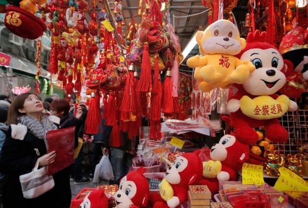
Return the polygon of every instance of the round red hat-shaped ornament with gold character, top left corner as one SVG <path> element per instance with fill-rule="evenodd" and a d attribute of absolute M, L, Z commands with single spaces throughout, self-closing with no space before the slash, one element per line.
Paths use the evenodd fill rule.
<path fill-rule="evenodd" d="M 15 35 L 35 40 L 47 29 L 46 24 L 40 18 L 20 7 L 7 6 L 5 11 L 4 25 Z"/>

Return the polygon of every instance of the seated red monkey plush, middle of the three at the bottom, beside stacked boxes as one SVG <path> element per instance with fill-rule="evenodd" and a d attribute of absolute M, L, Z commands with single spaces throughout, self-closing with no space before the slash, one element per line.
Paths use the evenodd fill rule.
<path fill-rule="evenodd" d="M 184 153 L 176 158 L 159 185 L 159 193 L 151 193 L 153 208 L 180 208 L 187 201 L 188 186 L 202 179 L 202 162 L 194 153 Z"/>

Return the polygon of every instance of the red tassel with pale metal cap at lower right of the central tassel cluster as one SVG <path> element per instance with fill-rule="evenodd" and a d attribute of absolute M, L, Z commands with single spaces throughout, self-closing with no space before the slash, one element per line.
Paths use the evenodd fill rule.
<path fill-rule="evenodd" d="M 164 114 L 173 113 L 172 83 L 170 70 L 166 71 L 166 78 L 163 84 L 162 112 Z"/>

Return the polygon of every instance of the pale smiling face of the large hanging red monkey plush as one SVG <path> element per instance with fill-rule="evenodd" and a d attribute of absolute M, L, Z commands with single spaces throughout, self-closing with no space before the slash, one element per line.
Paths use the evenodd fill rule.
<path fill-rule="evenodd" d="M 248 60 L 256 67 L 243 83 L 246 92 L 252 95 L 270 95 L 285 85 L 286 76 L 281 71 L 285 67 L 284 59 L 277 49 L 253 48 L 245 51 L 241 60 Z"/>

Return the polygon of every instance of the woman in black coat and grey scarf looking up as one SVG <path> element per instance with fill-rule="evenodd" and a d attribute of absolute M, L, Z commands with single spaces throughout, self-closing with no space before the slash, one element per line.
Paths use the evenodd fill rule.
<path fill-rule="evenodd" d="M 19 180 L 20 175 L 31 172 L 36 163 L 42 167 L 56 158 L 55 151 L 47 154 L 45 133 L 56 130 L 57 126 L 42 114 L 43 110 L 42 101 L 30 92 L 15 97 L 8 110 L 9 129 L 0 159 L 0 172 L 7 177 L 2 193 L 3 208 L 56 208 L 54 189 L 37 198 L 25 199 Z"/>

